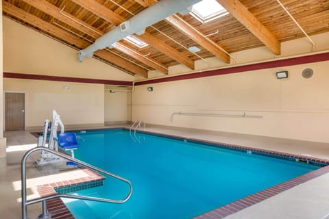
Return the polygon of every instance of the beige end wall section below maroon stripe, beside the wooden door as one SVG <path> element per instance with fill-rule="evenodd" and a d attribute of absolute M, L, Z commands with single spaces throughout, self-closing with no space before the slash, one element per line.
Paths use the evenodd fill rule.
<path fill-rule="evenodd" d="M 25 92 L 26 127 L 42 126 L 56 110 L 64 125 L 104 123 L 104 86 L 92 83 L 3 79 L 5 92 Z M 69 86 L 69 89 L 64 89 Z"/>

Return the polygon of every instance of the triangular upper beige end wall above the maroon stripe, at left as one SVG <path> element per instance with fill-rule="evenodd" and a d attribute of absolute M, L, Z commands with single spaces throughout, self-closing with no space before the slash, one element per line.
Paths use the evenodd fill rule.
<path fill-rule="evenodd" d="M 3 17 L 3 70 L 11 73 L 133 81 L 123 71 L 86 58 L 77 50 Z"/>

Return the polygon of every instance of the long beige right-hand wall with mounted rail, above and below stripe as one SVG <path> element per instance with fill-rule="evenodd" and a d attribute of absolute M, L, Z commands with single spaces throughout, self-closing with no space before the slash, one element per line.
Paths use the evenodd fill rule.
<path fill-rule="evenodd" d="M 316 49 L 329 49 L 328 34 L 313 36 Z M 298 47 L 300 45 L 300 47 Z M 282 43 L 282 57 L 312 52 L 304 38 Z M 236 62 L 274 60 L 263 48 L 235 53 Z M 208 65 L 215 66 L 212 58 Z M 199 61 L 204 62 L 204 61 Z M 217 61 L 218 62 L 218 61 Z M 313 68 L 310 79 L 302 70 Z M 133 93 L 132 120 L 145 123 L 208 129 L 260 136 L 329 142 L 329 62 L 302 64 L 245 73 L 219 75 L 183 81 L 136 86 Z M 184 72 L 184 67 L 171 70 Z M 288 79 L 276 79 L 276 72 L 288 70 Z M 153 86 L 154 92 L 147 87 Z M 247 114 L 263 118 L 224 118 L 175 115 L 173 112 L 205 114 Z"/>

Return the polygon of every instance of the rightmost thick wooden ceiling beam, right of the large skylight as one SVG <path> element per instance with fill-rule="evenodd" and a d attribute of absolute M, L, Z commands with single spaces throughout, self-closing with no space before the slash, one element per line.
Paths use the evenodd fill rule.
<path fill-rule="evenodd" d="M 236 20 L 249 29 L 274 54 L 280 55 L 280 42 L 239 0 L 217 0 Z"/>

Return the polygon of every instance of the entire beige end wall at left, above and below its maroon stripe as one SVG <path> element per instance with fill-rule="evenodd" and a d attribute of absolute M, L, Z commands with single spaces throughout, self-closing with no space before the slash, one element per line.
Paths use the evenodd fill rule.
<path fill-rule="evenodd" d="M 87 58 L 84 62 L 78 62 L 77 50 L 5 17 L 3 42 L 5 72 L 134 80 L 132 75 L 99 60 Z M 27 128 L 42 126 L 45 118 L 51 119 L 51 110 L 56 110 L 66 125 L 104 123 L 104 86 L 101 84 L 4 79 L 3 86 L 5 92 L 26 93 Z M 70 89 L 64 90 L 63 86 Z M 106 103 L 115 106 L 114 114 L 120 113 L 119 117 L 111 114 L 107 121 L 127 120 L 127 103 L 123 105 L 121 99 L 111 99 Z"/>

